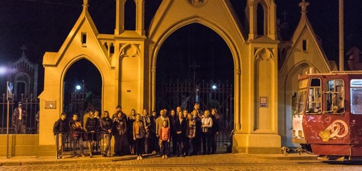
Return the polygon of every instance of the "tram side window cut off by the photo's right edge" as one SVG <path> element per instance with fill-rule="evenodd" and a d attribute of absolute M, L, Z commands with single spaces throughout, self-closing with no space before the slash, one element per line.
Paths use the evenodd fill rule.
<path fill-rule="evenodd" d="M 362 114 L 362 79 L 350 81 L 350 106 L 352 114 Z"/>

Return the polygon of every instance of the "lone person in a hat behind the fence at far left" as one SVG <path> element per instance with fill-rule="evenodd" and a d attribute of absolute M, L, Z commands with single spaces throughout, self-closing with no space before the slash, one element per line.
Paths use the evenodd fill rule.
<path fill-rule="evenodd" d="M 16 108 L 13 112 L 12 117 L 12 125 L 15 129 L 15 134 L 22 133 L 25 134 L 26 127 L 25 127 L 25 121 L 26 121 L 27 113 L 23 109 L 23 103 L 18 103 L 18 108 Z"/>

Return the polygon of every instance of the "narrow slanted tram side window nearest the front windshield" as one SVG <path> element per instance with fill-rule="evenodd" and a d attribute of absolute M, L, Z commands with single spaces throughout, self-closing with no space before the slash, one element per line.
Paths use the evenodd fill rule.
<path fill-rule="evenodd" d="M 308 90 L 306 113 L 308 114 L 322 113 L 321 91 L 322 91 L 321 80 L 319 78 L 312 78 Z"/>

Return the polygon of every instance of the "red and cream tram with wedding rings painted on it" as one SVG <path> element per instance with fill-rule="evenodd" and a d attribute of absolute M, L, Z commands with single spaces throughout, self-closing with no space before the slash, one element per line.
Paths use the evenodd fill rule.
<path fill-rule="evenodd" d="M 292 142 L 314 154 L 362 156 L 362 71 L 301 75 L 295 100 Z"/>

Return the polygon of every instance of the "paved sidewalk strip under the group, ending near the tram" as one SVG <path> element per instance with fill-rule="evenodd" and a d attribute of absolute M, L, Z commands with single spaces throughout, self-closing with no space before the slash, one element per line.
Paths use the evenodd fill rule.
<path fill-rule="evenodd" d="M 0 165 L 35 165 L 35 164 L 69 164 L 69 163 L 89 163 L 89 162 L 111 162 L 111 161 L 124 161 L 125 163 L 143 162 L 143 163 L 157 163 L 159 161 L 167 163 L 185 164 L 192 161 L 193 163 L 240 163 L 240 162 L 258 162 L 258 161 L 273 161 L 273 160 L 315 160 L 316 155 L 310 154 L 212 154 L 212 155 L 197 155 L 183 157 L 170 157 L 162 160 L 155 154 L 144 155 L 144 160 L 135 160 L 135 155 L 125 155 L 117 157 L 102 157 L 101 155 L 94 155 L 93 158 L 86 157 L 73 157 L 71 155 L 63 155 L 64 158 L 55 159 L 55 156 L 16 156 L 16 157 L 0 157 Z"/>

